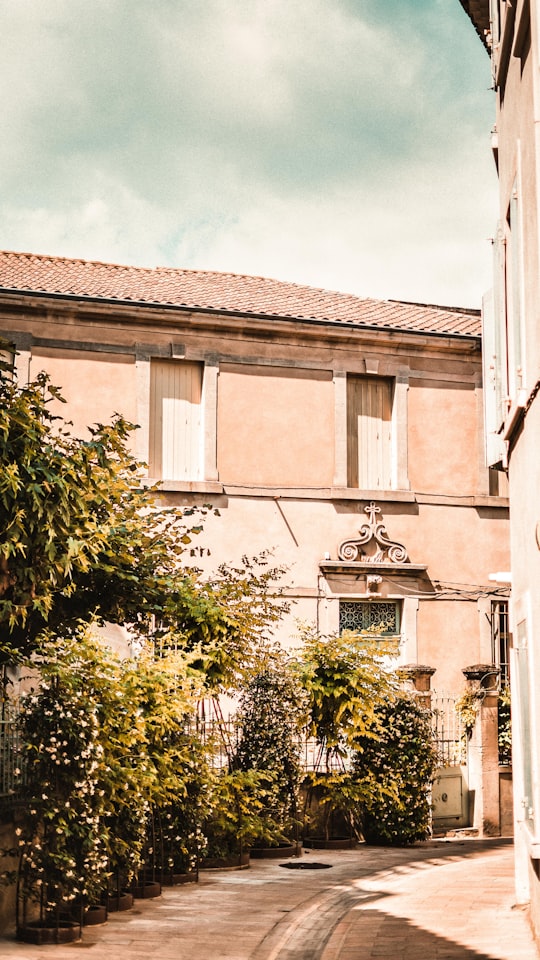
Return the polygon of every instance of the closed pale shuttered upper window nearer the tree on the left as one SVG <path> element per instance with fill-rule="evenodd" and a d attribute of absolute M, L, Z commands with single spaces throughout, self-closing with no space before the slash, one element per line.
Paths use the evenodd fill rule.
<path fill-rule="evenodd" d="M 202 478 L 203 365 L 153 360 L 148 467 L 162 480 Z"/>

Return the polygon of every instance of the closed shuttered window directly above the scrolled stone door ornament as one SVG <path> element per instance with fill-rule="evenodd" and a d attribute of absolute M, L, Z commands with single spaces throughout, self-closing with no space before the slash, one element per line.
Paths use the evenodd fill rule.
<path fill-rule="evenodd" d="M 383 377 L 347 378 L 347 483 L 363 490 L 394 487 L 394 385 Z"/>

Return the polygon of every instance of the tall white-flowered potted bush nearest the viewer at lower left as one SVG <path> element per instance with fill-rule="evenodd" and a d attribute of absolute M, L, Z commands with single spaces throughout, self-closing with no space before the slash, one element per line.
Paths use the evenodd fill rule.
<path fill-rule="evenodd" d="M 28 807 L 17 828 L 20 892 L 42 911 L 98 895 L 107 867 L 99 771 L 101 657 L 82 638 L 44 645 L 39 687 L 21 705 Z"/>

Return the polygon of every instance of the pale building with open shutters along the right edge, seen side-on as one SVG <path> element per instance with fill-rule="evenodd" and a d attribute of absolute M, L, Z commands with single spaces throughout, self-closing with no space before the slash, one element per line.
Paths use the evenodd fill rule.
<path fill-rule="evenodd" d="M 536 0 L 462 5 L 491 55 L 495 91 L 500 205 L 484 304 L 488 462 L 509 478 L 517 892 L 530 900 L 540 936 L 540 8 Z"/>

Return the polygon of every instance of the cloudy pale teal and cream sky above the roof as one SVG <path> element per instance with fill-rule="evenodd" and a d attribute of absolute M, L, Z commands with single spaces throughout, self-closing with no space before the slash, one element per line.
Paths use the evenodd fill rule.
<path fill-rule="evenodd" d="M 0 247 L 477 307 L 489 58 L 459 0 L 3 0 Z"/>

